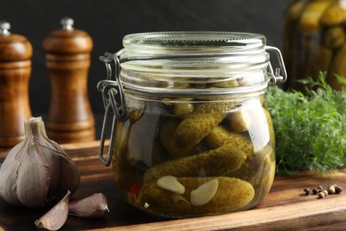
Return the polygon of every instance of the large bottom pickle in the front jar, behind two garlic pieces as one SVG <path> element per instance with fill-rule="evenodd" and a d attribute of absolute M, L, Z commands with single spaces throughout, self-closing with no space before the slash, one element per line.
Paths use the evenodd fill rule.
<path fill-rule="evenodd" d="M 216 194 L 208 203 L 201 206 L 193 206 L 190 203 L 191 192 L 202 184 L 212 180 L 218 180 Z M 142 204 L 146 204 L 147 211 L 156 214 L 183 216 L 212 214 L 243 209 L 254 198 L 255 190 L 247 181 L 235 178 L 177 178 L 185 186 L 183 195 L 176 195 L 157 186 L 153 181 L 143 188 L 139 197 Z"/>

